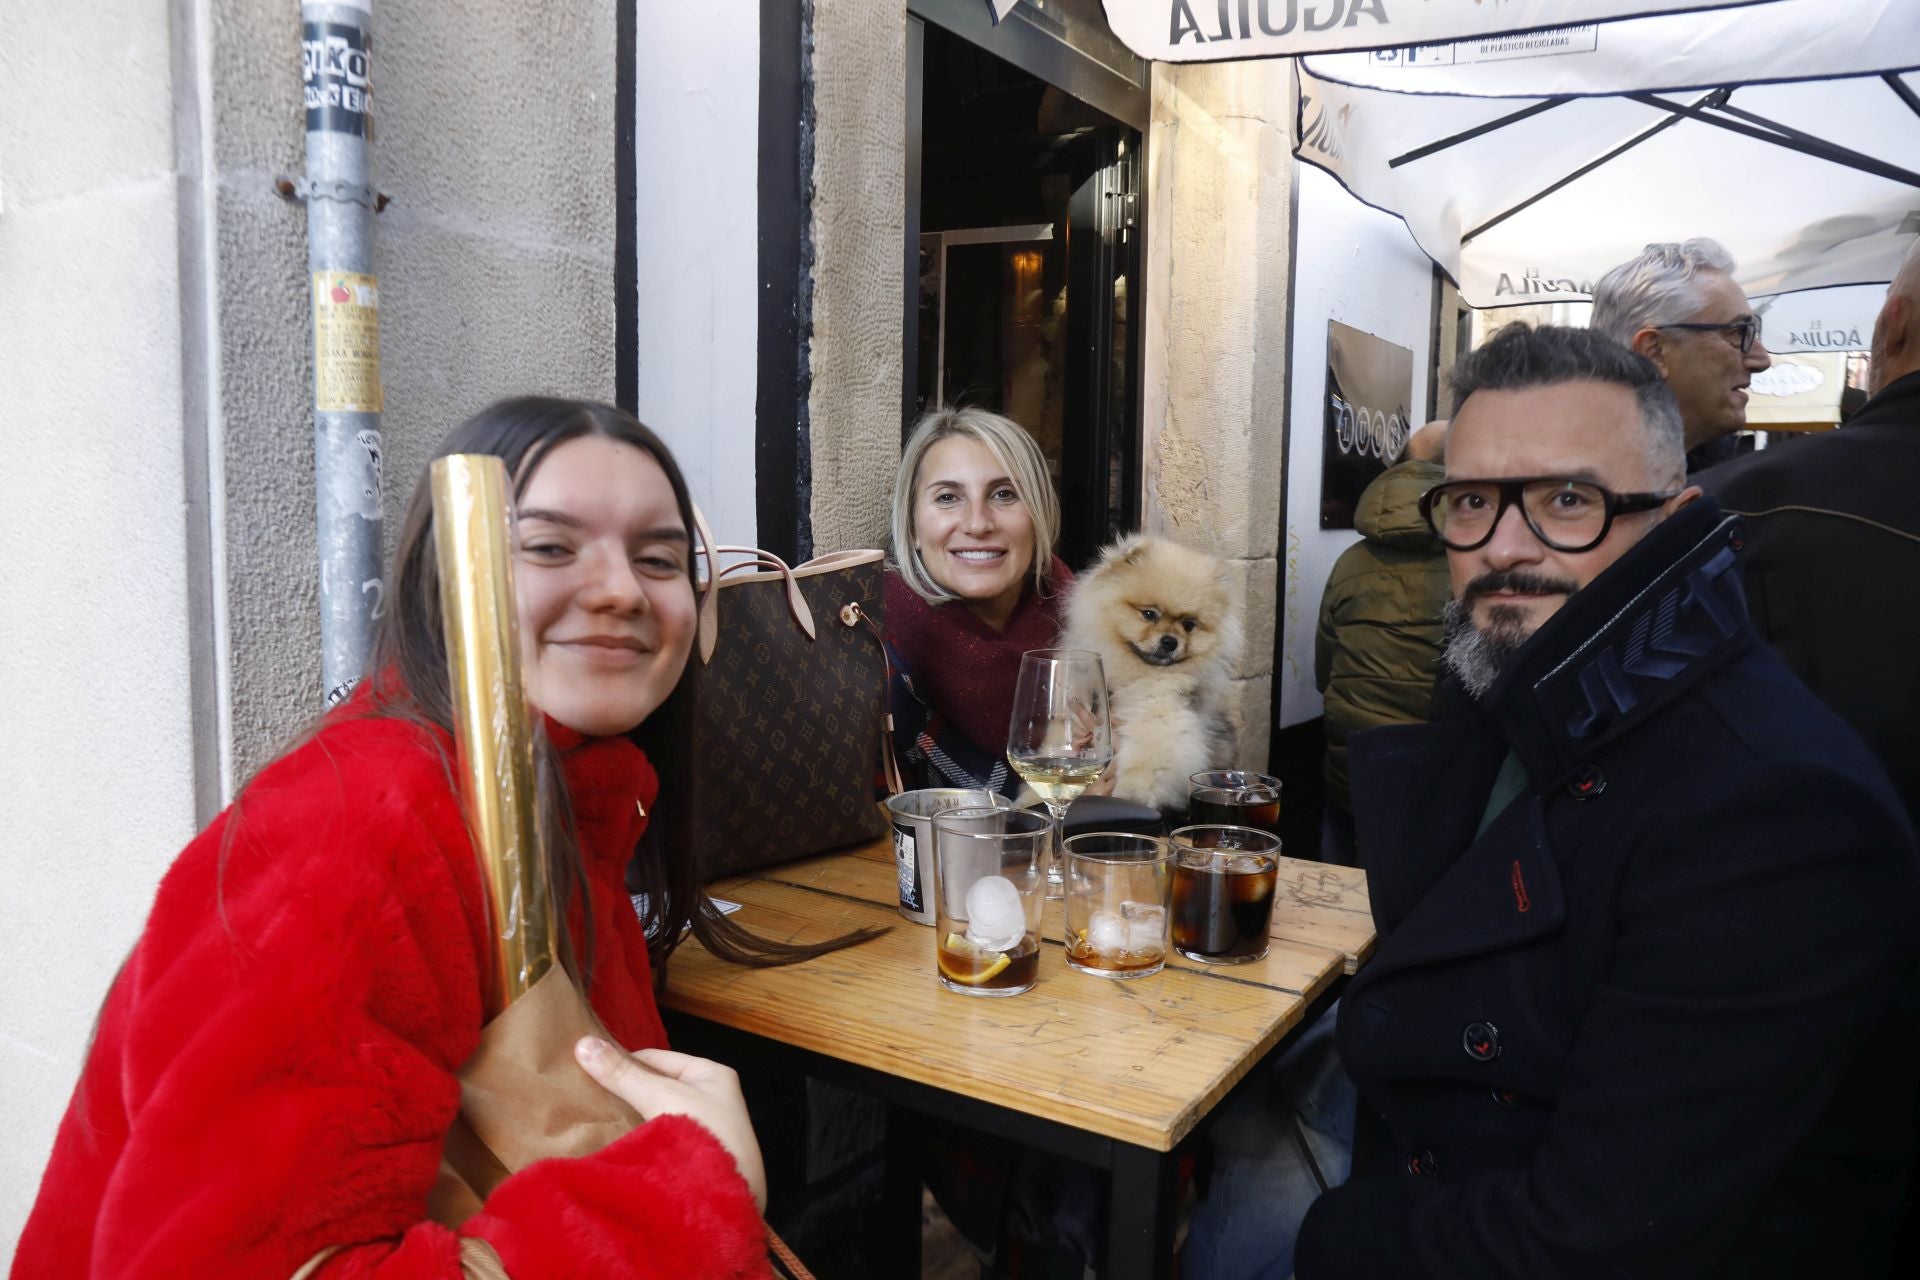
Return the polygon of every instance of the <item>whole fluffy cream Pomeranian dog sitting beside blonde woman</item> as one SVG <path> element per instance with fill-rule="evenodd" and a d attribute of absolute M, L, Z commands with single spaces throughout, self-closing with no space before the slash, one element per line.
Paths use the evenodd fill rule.
<path fill-rule="evenodd" d="M 1125 537 L 1079 576 L 1062 645 L 1106 668 L 1114 794 L 1160 810 L 1187 804 L 1188 775 L 1233 752 L 1227 679 L 1240 612 L 1227 566 L 1165 537 Z"/>

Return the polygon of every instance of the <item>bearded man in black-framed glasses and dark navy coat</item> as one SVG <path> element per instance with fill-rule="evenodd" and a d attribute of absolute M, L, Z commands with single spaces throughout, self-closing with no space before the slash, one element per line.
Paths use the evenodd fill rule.
<path fill-rule="evenodd" d="M 1356 735 L 1380 942 L 1340 1057 L 1390 1140 L 1300 1280 L 1872 1276 L 1914 1086 L 1914 837 L 1755 643 L 1740 520 L 1592 330 L 1455 374 L 1427 499 L 1461 720 Z"/>

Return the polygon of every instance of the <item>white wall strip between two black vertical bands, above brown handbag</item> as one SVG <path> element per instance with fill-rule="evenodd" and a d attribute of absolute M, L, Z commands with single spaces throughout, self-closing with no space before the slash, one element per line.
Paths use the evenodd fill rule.
<path fill-rule="evenodd" d="M 637 13 L 639 420 L 720 541 L 753 545 L 760 6 Z"/>

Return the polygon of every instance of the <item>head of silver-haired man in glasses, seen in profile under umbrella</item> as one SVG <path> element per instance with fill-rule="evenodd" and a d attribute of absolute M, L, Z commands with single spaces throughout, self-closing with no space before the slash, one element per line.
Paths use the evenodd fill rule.
<path fill-rule="evenodd" d="M 1592 326 L 1661 370 L 1680 403 L 1690 472 L 1734 455 L 1747 384 L 1772 357 L 1726 249 L 1705 238 L 1649 244 L 1594 286 Z"/>

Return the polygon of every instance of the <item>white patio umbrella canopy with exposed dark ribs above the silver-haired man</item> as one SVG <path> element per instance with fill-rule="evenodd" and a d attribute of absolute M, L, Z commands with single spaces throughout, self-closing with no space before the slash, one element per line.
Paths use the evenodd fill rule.
<path fill-rule="evenodd" d="M 1649 242 L 1713 236 L 1770 349 L 1859 349 L 1920 232 L 1914 67 L 1916 0 L 1309 58 L 1296 155 L 1400 215 L 1469 305 L 1580 299 Z"/>

